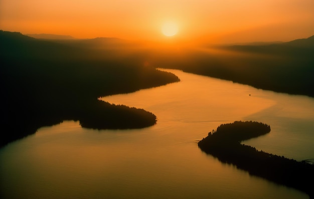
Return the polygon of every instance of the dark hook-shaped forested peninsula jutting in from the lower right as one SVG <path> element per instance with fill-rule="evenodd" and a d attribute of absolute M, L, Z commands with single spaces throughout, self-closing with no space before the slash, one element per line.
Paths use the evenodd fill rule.
<path fill-rule="evenodd" d="M 270 132 L 270 126 L 256 121 L 221 124 L 198 142 L 202 151 L 278 184 L 296 188 L 314 197 L 314 165 L 259 151 L 241 141 Z"/>

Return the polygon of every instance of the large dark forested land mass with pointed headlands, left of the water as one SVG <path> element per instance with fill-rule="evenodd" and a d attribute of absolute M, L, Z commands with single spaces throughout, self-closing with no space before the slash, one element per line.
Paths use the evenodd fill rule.
<path fill-rule="evenodd" d="M 153 125 L 151 112 L 98 98 L 180 81 L 115 38 L 44 40 L 1 30 L 0 43 L 0 147 L 63 120 L 96 129 Z"/>

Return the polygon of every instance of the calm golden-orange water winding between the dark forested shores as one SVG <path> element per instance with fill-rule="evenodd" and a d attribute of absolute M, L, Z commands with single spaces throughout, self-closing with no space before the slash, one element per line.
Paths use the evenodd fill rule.
<path fill-rule="evenodd" d="M 92 130 L 64 121 L 0 149 L 1 198 L 308 198 L 203 153 L 222 123 L 256 120 L 271 132 L 244 143 L 314 158 L 314 98 L 170 70 L 181 82 L 101 98 L 144 108 L 144 129 Z"/>

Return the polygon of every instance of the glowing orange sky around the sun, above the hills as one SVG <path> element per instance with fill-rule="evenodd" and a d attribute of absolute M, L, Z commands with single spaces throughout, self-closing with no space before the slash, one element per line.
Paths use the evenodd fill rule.
<path fill-rule="evenodd" d="M 78 38 L 287 41 L 314 34 L 314 0 L 0 0 L 0 29 Z"/>

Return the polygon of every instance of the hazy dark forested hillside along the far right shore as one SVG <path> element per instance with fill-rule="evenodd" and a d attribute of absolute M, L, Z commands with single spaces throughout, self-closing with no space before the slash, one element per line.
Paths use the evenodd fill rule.
<path fill-rule="evenodd" d="M 256 88 L 314 97 L 314 36 L 263 45 L 220 45 L 160 53 L 154 62 Z"/>

